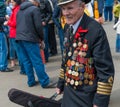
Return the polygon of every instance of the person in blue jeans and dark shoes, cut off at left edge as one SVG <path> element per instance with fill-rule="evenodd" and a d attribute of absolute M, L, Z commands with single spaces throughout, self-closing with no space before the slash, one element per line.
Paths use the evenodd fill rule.
<path fill-rule="evenodd" d="M 0 0 L 0 72 L 12 72 L 8 68 L 8 47 L 7 38 L 4 31 L 4 22 L 6 21 L 6 5 L 3 0 Z"/>

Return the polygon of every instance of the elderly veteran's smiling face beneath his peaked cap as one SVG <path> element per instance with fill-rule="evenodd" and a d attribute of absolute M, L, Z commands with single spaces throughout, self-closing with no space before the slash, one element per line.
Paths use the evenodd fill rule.
<path fill-rule="evenodd" d="M 84 3 L 80 3 L 78 0 L 62 5 L 62 14 L 66 18 L 67 24 L 75 24 L 79 18 L 84 14 Z"/>

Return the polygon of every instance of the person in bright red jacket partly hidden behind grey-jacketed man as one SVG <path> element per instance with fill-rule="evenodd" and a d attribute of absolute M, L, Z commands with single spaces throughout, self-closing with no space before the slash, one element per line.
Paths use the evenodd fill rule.
<path fill-rule="evenodd" d="M 11 59 L 11 66 L 15 66 L 15 52 L 17 54 L 18 59 L 20 59 L 20 53 L 18 52 L 18 47 L 15 41 L 16 38 L 16 17 L 17 13 L 20 9 L 21 0 L 11 0 L 12 3 L 12 14 L 10 18 L 8 17 L 8 21 L 4 22 L 4 25 L 8 25 L 10 27 L 10 44 L 13 46 L 14 49 L 10 46 L 10 59 Z M 24 72 L 23 65 L 20 62 L 21 72 Z"/>

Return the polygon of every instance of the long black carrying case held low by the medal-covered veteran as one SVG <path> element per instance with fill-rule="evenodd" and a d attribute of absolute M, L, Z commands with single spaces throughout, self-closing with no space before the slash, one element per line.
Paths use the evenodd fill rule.
<path fill-rule="evenodd" d="M 14 88 L 8 92 L 10 101 L 24 107 L 61 107 L 61 102 L 54 100 L 56 96 L 54 94 L 51 98 L 44 98 Z"/>

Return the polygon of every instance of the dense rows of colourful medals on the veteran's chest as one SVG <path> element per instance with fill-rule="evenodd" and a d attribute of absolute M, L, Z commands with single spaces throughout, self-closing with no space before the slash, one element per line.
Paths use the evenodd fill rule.
<path fill-rule="evenodd" d="M 95 78 L 94 68 L 92 67 L 93 60 L 92 58 L 85 58 L 88 50 L 87 40 L 84 39 L 82 43 L 79 38 L 78 42 L 74 40 L 72 45 L 68 52 L 68 56 L 72 56 L 72 58 L 67 61 L 66 85 L 70 84 L 75 89 L 83 84 L 93 85 Z M 73 55 L 72 48 L 74 48 Z"/>

